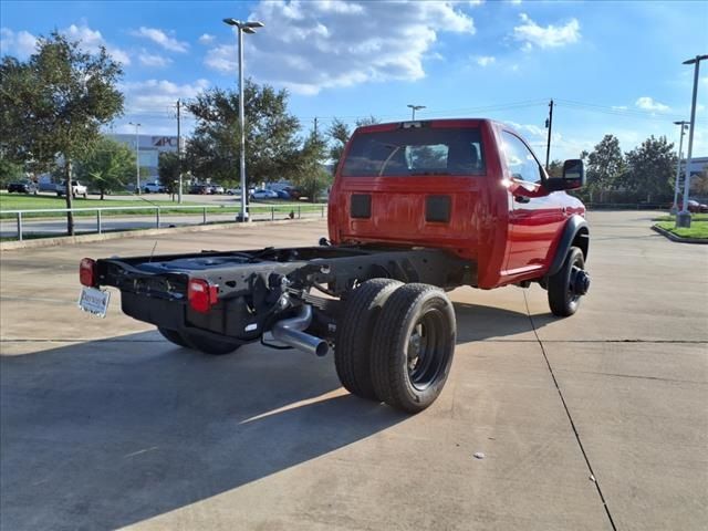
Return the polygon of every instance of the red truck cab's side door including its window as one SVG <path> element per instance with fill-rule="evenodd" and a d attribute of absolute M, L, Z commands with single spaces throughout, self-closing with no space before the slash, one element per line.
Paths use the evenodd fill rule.
<path fill-rule="evenodd" d="M 502 131 L 501 135 L 506 178 L 528 190 L 538 189 L 544 174 L 533 152 L 513 133 Z M 562 219 L 562 205 L 555 194 L 531 198 L 510 191 L 507 274 L 541 270 Z"/>

